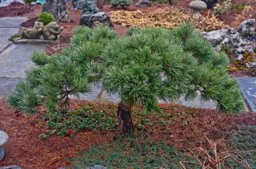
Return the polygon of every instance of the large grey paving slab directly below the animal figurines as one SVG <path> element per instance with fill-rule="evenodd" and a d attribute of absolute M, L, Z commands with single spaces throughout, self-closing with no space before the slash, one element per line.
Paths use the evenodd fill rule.
<path fill-rule="evenodd" d="M 0 77 L 25 78 L 26 69 L 34 63 L 30 54 L 34 50 L 42 51 L 45 45 L 12 44 L 0 53 Z"/>

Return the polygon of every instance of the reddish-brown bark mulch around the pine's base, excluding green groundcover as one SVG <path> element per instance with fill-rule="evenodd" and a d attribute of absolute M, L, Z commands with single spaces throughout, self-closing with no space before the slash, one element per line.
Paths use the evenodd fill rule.
<path fill-rule="evenodd" d="M 106 112 L 116 111 L 113 104 L 95 103 L 75 100 L 71 109 L 89 107 L 92 110 Z M 171 116 L 162 124 L 160 117 L 152 116 L 150 125 L 146 125 L 144 132 L 154 140 L 163 140 L 178 148 L 178 150 L 192 149 L 204 142 L 206 133 L 211 140 L 227 138 L 230 131 L 240 125 L 255 125 L 256 115 L 245 113 L 241 115 L 224 115 L 214 110 L 185 108 L 175 104 L 159 104 L 163 112 Z M 46 122 L 42 119 L 41 109 L 33 116 L 25 116 L 0 102 L 0 128 L 7 132 L 10 140 L 6 143 L 6 157 L 0 166 L 17 164 L 24 168 L 57 168 L 69 167 L 69 159 L 75 157 L 78 151 L 88 147 L 111 141 L 118 135 L 114 132 L 78 132 L 73 138 L 52 136 L 41 140 L 39 135 L 46 132 Z M 134 115 L 136 123 L 138 115 Z M 160 118 L 160 119 L 159 119 Z M 140 132 L 136 130 L 136 132 Z"/>

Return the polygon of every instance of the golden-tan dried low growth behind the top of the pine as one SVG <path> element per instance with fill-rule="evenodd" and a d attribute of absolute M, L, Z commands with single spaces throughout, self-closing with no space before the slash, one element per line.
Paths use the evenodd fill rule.
<path fill-rule="evenodd" d="M 122 26 L 139 28 L 160 26 L 171 29 L 180 26 L 183 22 L 191 22 L 197 29 L 205 31 L 228 27 L 210 13 L 197 15 L 193 14 L 190 10 L 177 7 L 166 7 L 150 13 L 143 13 L 140 10 L 117 10 L 110 12 L 110 18 L 112 22 Z"/>

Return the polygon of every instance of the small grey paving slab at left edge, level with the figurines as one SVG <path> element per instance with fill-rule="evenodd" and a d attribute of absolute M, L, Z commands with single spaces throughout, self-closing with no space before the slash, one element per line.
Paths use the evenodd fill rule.
<path fill-rule="evenodd" d="M 0 28 L 0 53 L 12 43 L 8 39 L 17 32 L 18 28 Z"/>

